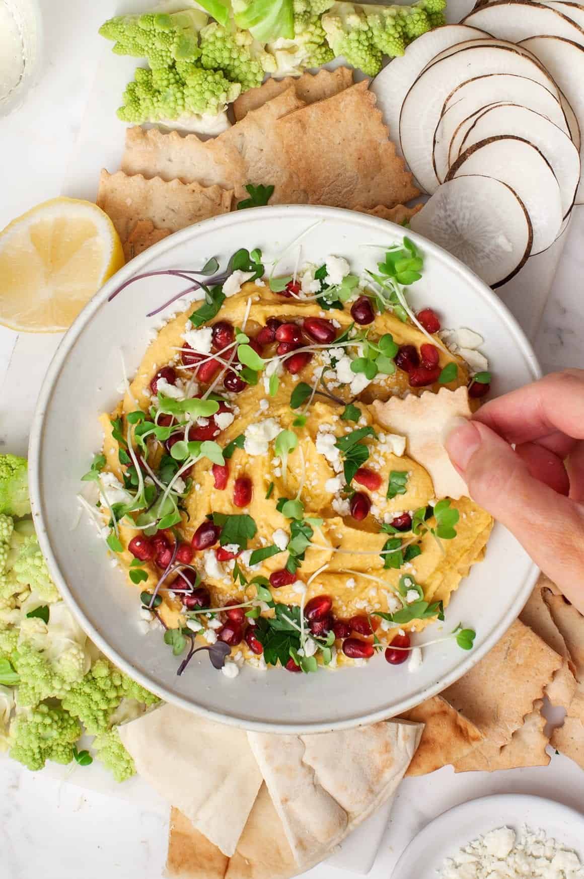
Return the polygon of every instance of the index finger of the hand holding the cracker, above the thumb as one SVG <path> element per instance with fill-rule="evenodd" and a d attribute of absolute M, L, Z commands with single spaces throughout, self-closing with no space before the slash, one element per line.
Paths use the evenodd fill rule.
<path fill-rule="evenodd" d="M 510 443 L 532 442 L 558 431 L 584 439 L 584 370 L 545 375 L 485 403 L 473 418 Z"/>

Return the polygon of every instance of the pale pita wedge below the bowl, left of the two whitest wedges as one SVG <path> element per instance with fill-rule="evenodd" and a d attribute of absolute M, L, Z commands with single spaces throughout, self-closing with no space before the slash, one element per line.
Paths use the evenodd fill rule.
<path fill-rule="evenodd" d="M 166 704 L 121 726 L 120 738 L 137 773 L 232 855 L 262 782 L 245 732 Z"/>

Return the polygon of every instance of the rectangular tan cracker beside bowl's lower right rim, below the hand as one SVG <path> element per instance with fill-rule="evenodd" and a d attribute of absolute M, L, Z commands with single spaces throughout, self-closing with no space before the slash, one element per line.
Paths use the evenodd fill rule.
<path fill-rule="evenodd" d="M 442 696 L 502 747 L 544 693 L 562 657 L 516 620 L 480 662 Z"/>

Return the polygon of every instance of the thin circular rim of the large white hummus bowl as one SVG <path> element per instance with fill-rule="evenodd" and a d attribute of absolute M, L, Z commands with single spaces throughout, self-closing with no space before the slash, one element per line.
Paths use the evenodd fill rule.
<path fill-rule="evenodd" d="M 269 210 L 270 214 L 267 214 L 266 207 L 267 210 Z M 62 572 L 56 561 L 55 554 L 53 553 L 50 542 L 48 540 L 47 530 L 44 527 L 43 523 L 44 507 L 41 489 L 40 457 L 43 441 L 45 413 L 47 411 L 48 405 L 50 404 L 51 396 L 53 395 L 55 386 L 59 380 L 62 366 L 69 356 L 70 349 L 76 344 L 77 338 L 84 331 L 87 324 L 91 322 L 91 319 L 95 315 L 95 313 L 102 307 L 102 305 L 106 303 L 108 296 L 113 293 L 113 290 L 115 290 L 116 287 L 119 287 L 120 284 L 122 284 L 125 280 L 131 278 L 133 275 L 140 273 L 145 265 L 148 265 L 153 260 L 164 255 L 166 251 L 172 251 L 175 246 L 180 245 L 193 237 L 196 237 L 198 234 L 200 234 L 201 229 L 203 231 L 214 228 L 217 230 L 221 230 L 223 228 L 229 228 L 231 225 L 237 226 L 239 222 L 251 221 L 252 219 L 257 218 L 258 215 L 261 217 L 265 216 L 266 221 L 268 222 L 276 222 L 278 218 L 274 216 L 274 214 L 280 214 L 280 218 L 284 218 L 287 215 L 295 216 L 299 214 L 302 217 L 306 218 L 307 223 L 310 223 L 310 221 L 317 219 L 323 221 L 326 219 L 340 219 L 344 222 L 347 222 L 347 219 L 350 216 L 355 225 L 365 225 L 374 229 L 387 229 L 389 223 L 395 230 L 398 231 L 400 235 L 403 235 L 405 231 L 403 226 L 399 226 L 398 224 L 391 221 L 383 220 L 371 214 L 361 214 L 352 210 L 348 210 L 346 208 L 322 207 L 317 205 L 274 205 L 266 207 L 248 208 L 245 211 L 244 215 L 240 214 L 238 211 L 231 211 L 228 214 L 220 214 L 219 216 L 210 217 L 208 220 L 203 220 L 199 223 L 196 223 L 193 226 L 188 226 L 186 227 L 186 229 L 180 229 L 178 232 L 167 236 L 166 238 L 162 239 L 162 241 L 148 248 L 148 250 L 142 251 L 139 256 L 131 259 L 126 265 L 122 266 L 118 272 L 115 272 L 115 274 L 113 274 L 113 276 L 106 281 L 106 284 L 104 284 L 104 286 L 100 288 L 100 290 L 91 298 L 91 300 L 87 303 L 84 309 L 79 313 L 74 323 L 71 324 L 69 330 L 66 331 L 66 333 L 64 334 L 60 344 L 57 347 L 55 355 L 47 368 L 47 373 L 45 374 L 45 378 L 42 382 L 36 408 L 33 414 L 33 422 L 31 425 L 28 447 L 28 473 L 31 507 L 40 548 L 42 550 L 43 556 L 47 560 L 49 571 L 51 573 L 51 576 L 55 580 L 55 584 L 58 587 L 62 599 L 69 605 L 69 609 L 76 617 L 81 627 L 84 629 L 84 632 L 86 632 L 86 634 L 91 638 L 91 641 L 96 644 L 99 650 L 101 650 L 101 652 L 104 653 L 114 665 L 117 665 L 117 667 L 119 667 L 122 672 L 125 672 L 128 677 L 134 679 L 151 693 L 156 694 L 164 701 L 172 702 L 179 708 L 183 708 L 200 716 L 204 716 L 209 721 L 213 721 L 215 723 L 224 723 L 239 729 L 281 734 L 302 734 L 326 732 L 330 730 L 347 730 L 352 729 L 356 726 L 387 720 L 392 716 L 398 716 L 404 711 L 409 710 L 409 708 L 413 708 L 419 705 L 420 702 L 425 701 L 426 699 L 434 695 L 442 693 L 442 691 L 445 690 L 448 686 L 453 684 L 456 680 L 460 679 L 464 674 L 466 674 L 466 672 L 470 671 L 470 669 L 474 665 L 476 665 L 489 650 L 494 647 L 494 645 L 500 640 L 500 638 L 504 636 L 507 628 L 509 628 L 513 624 L 517 616 L 520 614 L 522 607 L 529 598 L 529 594 L 532 591 L 533 586 L 537 582 L 537 577 L 539 576 L 539 569 L 537 568 L 537 565 L 533 562 L 531 563 L 528 573 L 526 574 L 524 584 L 522 585 L 522 589 L 520 590 L 520 592 L 517 593 L 515 601 L 508 608 L 507 614 L 505 614 L 505 616 L 501 619 L 498 625 L 495 626 L 492 632 L 485 637 L 485 641 L 481 643 L 477 648 L 469 651 L 469 653 L 463 658 L 463 661 L 459 665 L 456 665 L 455 669 L 453 669 L 442 678 L 435 680 L 432 684 L 425 686 L 421 691 L 415 691 L 412 696 L 408 697 L 407 699 L 403 699 L 400 703 L 398 703 L 397 708 L 391 708 L 389 710 L 388 708 L 378 708 L 376 711 L 371 711 L 368 714 L 359 718 L 350 717 L 344 720 L 330 721 L 326 723 L 267 723 L 264 721 L 244 719 L 230 714 L 223 714 L 219 711 L 205 708 L 200 704 L 196 704 L 194 701 L 191 701 L 190 699 L 180 694 L 173 693 L 171 690 L 166 689 L 164 686 L 158 685 L 156 682 L 151 680 L 148 675 L 135 669 L 134 666 L 131 665 L 131 663 L 128 662 L 127 659 L 121 657 L 120 654 L 118 654 L 117 650 L 109 645 L 106 638 L 91 623 L 88 617 L 84 614 L 84 611 L 81 609 L 81 607 L 77 605 L 77 600 L 75 599 L 73 592 L 71 592 L 71 590 L 69 589 L 69 585 L 67 585 L 67 582 L 62 575 Z M 515 316 L 511 314 L 503 301 L 501 301 L 500 298 L 495 293 L 493 293 L 493 290 L 490 287 L 487 287 L 485 282 L 480 280 L 474 272 L 471 272 L 471 269 L 464 265 L 464 263 L 462 263 L 456 257 L 452 256 L 452 254 L 450 254 L 448 251 L 443 250 L 443 248 L 439 245 L 434 244 L 424 236 L 420 236 L 417 233 L 414 233 L 411 229 L 407 229 L 407 233 L 408 237 L 411 237 L 414 243 L 419 243 L 420 247 L 423 248 L 425 251 L 434 251 L 434 256 L 437 256 L 443 261 L 450 263 L 452 268 L 456 272 L 464 275 L 467 280 L 472 280 L 473 290 L 476 290 L 478 294 L 487 301 L 489 306 L 496 312 L 497 317 L 500 319 L 500 321 L 506 324 L 507 330 L 513 335 L 515 344 L 521 350 L 526 364 L 529 367 L 530 372 L 532 373 L 533 380 L 541 377 L 541 368 L 537 361 L 536 354 L 529 343 L 529 339 L 525 335 L 520 324 L 516 321 Z M 352 670 L 347 669 L 345 671 L 350 672 Z"/>

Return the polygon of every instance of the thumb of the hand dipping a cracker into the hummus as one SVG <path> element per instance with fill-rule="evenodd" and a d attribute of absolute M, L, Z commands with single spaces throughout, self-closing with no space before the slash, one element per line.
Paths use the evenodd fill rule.
<path fill-rule="evenodd" d="M 451 432 L 446 449 L 471 498 L 515 534 L 534 562 L 584 610 L 584 506 L 530 476 L 513 448 L 479 421 Z"/>

